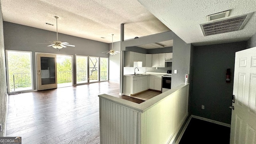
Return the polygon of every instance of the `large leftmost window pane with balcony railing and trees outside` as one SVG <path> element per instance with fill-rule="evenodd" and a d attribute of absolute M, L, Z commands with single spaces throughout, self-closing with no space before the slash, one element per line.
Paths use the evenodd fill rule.
<path fill-rule="evenodd" d="M 32 90 L 32 52 L 7 50 L 8 91 Z"/>

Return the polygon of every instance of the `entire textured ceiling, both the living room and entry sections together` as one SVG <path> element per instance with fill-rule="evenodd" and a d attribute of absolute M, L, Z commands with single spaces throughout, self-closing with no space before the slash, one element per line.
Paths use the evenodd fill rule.
<path fill-rule="evenodd" d="M 256 0 L 0 1 L 4 21 L 56 32 L 58 16 L 58 32 L 106 43 L 112 42 L 111 34 L 120 41 L 122 23 L 125 40 L 172 30 L 195 46 L 248 40 L 256 32 Z M 225 10 L 231 10 L 230 17 L 254 13 L 242 30 L 204 36 L 200 24 L 206 16 Z"/>

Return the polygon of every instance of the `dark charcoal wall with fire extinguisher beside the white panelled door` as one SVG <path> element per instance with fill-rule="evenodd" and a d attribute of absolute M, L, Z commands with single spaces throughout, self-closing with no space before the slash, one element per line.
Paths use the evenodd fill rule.
<path fill-rule="evenodd" d="M 244 50 L 246 42 L 194 47 L 190 112 L 211 120 L 230 124 L 235 52 Z M 231 82 L 226 83 L 226 69 Z M 205 109 L 201 109 L 201 105 Z"/>

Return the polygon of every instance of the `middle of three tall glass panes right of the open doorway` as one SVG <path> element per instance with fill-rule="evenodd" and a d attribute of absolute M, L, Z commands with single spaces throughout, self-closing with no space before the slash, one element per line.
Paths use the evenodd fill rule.
<path fill-rule="evenodd" d="M 89 82 L 98 82 L 99 81 L 99 74 L 98 74 L 98 67 L 99 67 L 99 58 L 89 56 Z"/>

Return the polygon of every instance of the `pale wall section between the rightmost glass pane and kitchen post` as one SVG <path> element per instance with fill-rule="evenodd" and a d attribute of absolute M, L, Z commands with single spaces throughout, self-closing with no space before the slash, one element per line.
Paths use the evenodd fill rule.
<path fill-rule="evenodd" d="M 112 49 L 112 43 L 109 48 Z M 113 49 L 120 51 L 120 42 L 114 42 Z M 120 82 L 120 53 L 109 56 L 109 80 Z"/>

